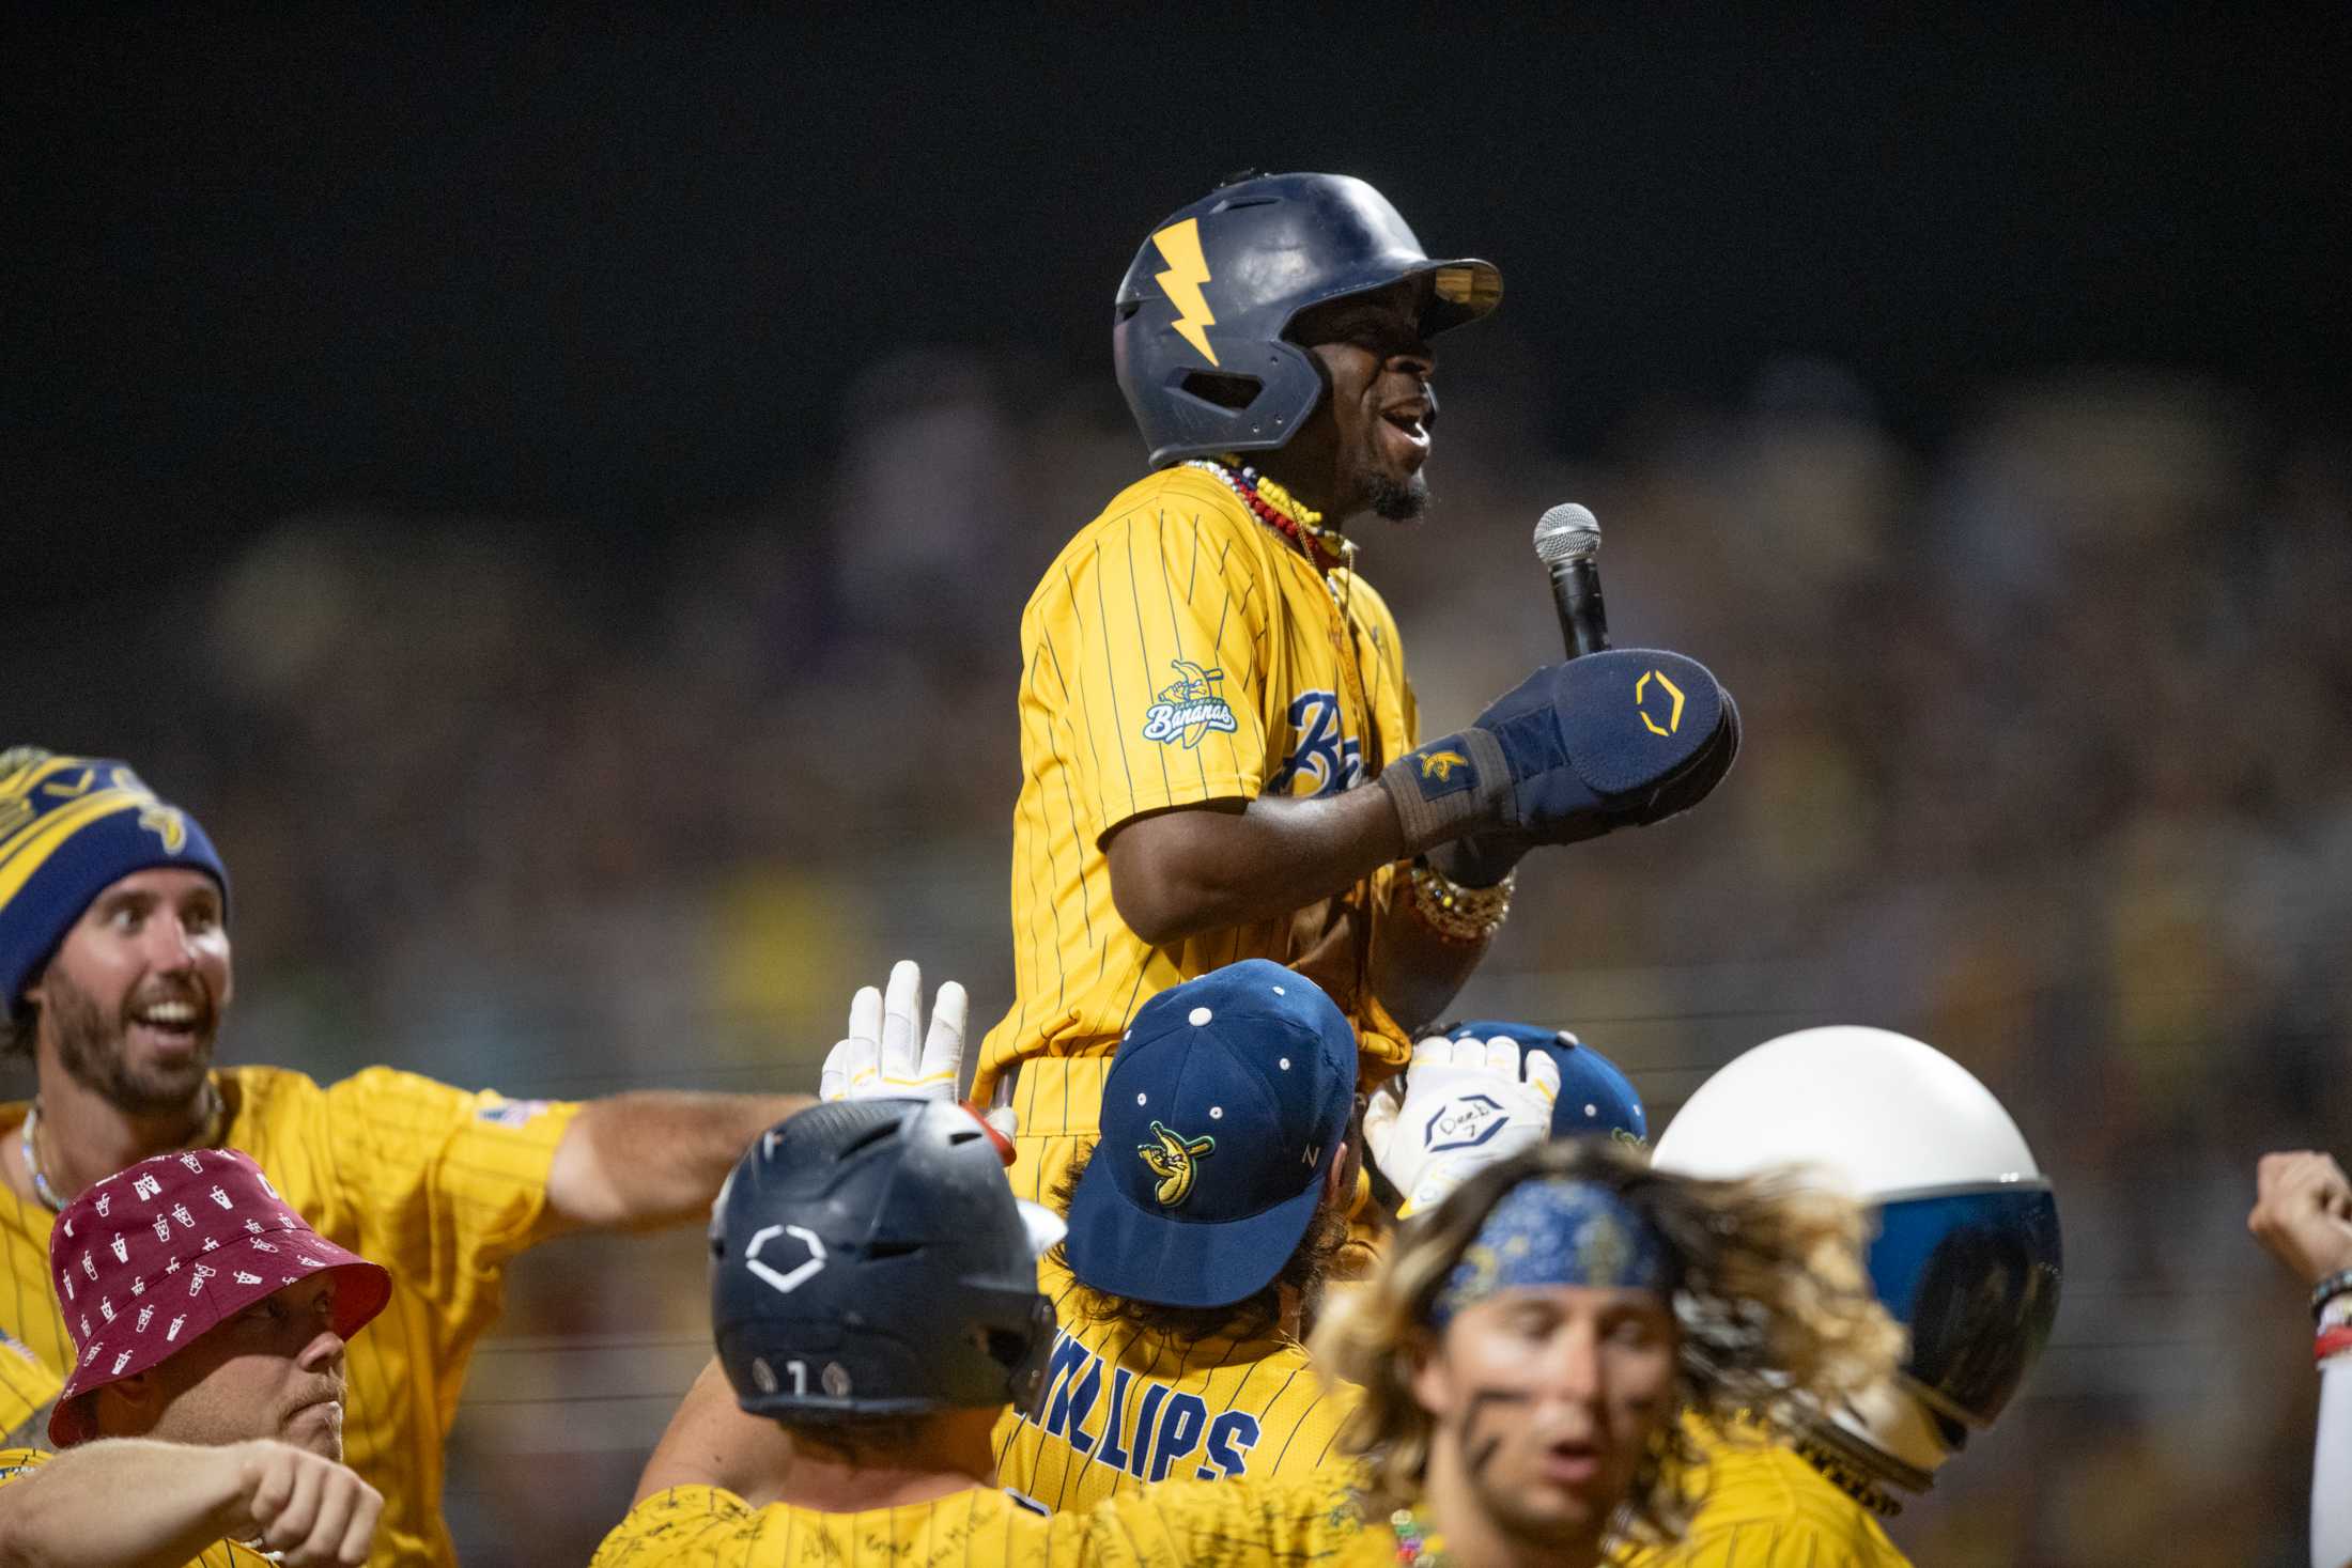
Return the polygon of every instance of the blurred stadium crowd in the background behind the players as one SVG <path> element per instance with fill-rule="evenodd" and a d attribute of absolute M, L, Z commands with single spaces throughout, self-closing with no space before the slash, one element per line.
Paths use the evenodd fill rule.
<path fill-rule="evenodd" d="M 1486 346 L 1465 346 L 1479 360 Z M 327 512 L 169 595 L 12 607 L 0 741 L 129 757 L 235 867 L 226 1060 L 508 1093 L 809 1088 L 891 957 L 1011 997 L 1021 599 L 1141 468 L 1115 404 L 873 367 L 771 505 L 614 543 Z M 1621 644 L 1705 658 L 1738 773 L 1555 851 L 1465 1013 L 1576 1027 L 1663 1126 L 1809 1023 L 1912 1032 L 2065 1215 L 2053 1347 L 1896 1528 L 1917 1561 L 2300 1561 L 2312 1378 L 2253 1159 L 2352 1126 L 2352 447 L 2074 374 L 1922 451 L 1837 367 L 1543 456 L 1446 390 L 1437 508 L 1367 520 L 1425 726 L 1555 646 L 1526 550 L 1592 505 Z M 779 435 L 783 440 L 783 435 Z M 703 1359 L 694 1237 L 524 1258 L 452 1443 L 473 1561 L 586 1561 Z"/>

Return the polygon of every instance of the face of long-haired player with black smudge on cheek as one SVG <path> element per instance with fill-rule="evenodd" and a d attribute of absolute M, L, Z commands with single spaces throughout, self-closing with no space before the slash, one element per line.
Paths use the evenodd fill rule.
<path fill-rule="evenodd" d="M 1437 1422 L 1432 1490 L 1444 1476 L 1515 1540 L 1595 1544 L 1672 1418 L 1675 1352 L 1656 1291 L 1541 1286 L 1463 1309 L 1414 1380 Z"/>

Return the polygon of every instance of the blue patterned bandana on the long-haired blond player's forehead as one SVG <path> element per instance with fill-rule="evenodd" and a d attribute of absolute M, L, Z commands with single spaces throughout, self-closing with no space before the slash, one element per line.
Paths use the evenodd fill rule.
<path fill-rule="evenodd" d="M 1670 1291 L 1672 1258 L 1658 1227 L 1611 1187 L 1569 1175 L 1526 1180 L 1486 1215 L 1437 1293 L 1430 1324 L 1444 1328 L 1489 1295 L 1526 1286 Z"/>

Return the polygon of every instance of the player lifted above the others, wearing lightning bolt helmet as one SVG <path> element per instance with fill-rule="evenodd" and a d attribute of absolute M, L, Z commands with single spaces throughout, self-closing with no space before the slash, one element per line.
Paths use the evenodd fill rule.
<path fill-rule="evenodd" d="M 1341 524 L 1425 508 L 1430 341 L 1501 296 L 1491 263 L 1430 259 L 1334 174 L 1223 186 L 1127 270 L 1112 353 L 1152 470 L 1021 618 L 1016 999 L 976 1095 L 1018 1112 L 1023 1194 L 1094 1143 L 1145 997 L 1287 964 L 1381 1077 L 1486 950 L 1526 849 L 1672 816 L 1729 769 L 1736 710 L 1677 654 L 1538 670 L 1416 748 L 1397 623 Z"/>

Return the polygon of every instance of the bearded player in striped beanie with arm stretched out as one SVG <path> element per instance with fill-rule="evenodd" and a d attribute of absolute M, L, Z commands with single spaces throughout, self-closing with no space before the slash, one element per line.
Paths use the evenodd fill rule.
<path fill-rule="evenodd" d="M 56 1213 L 151 1154 L 247 1150 L 320 1234 L 393 1269 L 350 1349 L 346 1446 L 383 1493 L 372 1561 L 449 1563 L 442 1439 L 506 1262 L 583 1225 L 706 1215 L 743 1145 L 807 1098 L 506 1100 L 390 1067 L 322 1088 L 214 1067 L 233 990 L 228 870 L 202 825 L 122 762 L 0 752 L 0 1009 L 38 1074 L 31 1105 L 0 1105 L 9 1328 L 66 1375 Z"/>

